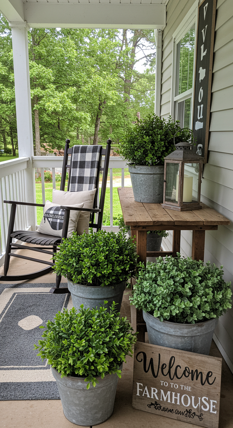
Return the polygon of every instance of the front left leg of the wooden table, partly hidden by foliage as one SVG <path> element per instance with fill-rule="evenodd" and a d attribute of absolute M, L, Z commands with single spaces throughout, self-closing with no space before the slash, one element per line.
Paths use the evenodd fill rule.
<path fill-rule="evenodd" d="M 137 231 L 137 254 L 139 255 L 138 261 L 146 265 L 147 261 L 147 231 Z M 137 340 L 145 342 L 146 324 L 143 319 L 142 309 L 136 309 L 136 323 L 137 323 Z"/>

